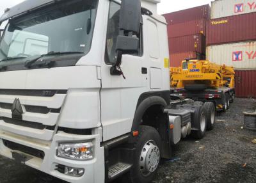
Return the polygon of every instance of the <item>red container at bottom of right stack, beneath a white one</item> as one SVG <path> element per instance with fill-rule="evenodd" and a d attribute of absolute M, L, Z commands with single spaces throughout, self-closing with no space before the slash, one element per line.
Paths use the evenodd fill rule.
<path fill-rule="evenodd" d="M 256 98 L 256 70 L 236 70 L 236 97 Z"/>

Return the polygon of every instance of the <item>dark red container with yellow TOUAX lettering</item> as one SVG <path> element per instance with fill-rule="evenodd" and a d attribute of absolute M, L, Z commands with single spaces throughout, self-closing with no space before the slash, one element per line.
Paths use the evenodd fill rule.
<path fill-rule="evenodd" d="M 247 13 L 207 22 L 207 45 L 256 40 L 256 13 Z"/>

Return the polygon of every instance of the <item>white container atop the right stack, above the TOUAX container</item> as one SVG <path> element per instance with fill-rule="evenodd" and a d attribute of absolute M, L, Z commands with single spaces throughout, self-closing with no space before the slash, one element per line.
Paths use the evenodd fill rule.
<path fill-rule="evenodd" d="M 255 0 L 215 0 L 211 5 L 211 19 L 256 12 Z"/>

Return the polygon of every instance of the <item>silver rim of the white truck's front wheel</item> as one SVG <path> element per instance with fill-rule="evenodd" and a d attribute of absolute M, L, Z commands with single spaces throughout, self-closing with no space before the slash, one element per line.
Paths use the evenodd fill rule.
<path fill-rule="evenodd" d="M 140 171 L 143 176 L 148 176 L 157 170 L 160 161 L 160 150 L 154 140 L 145 143 L 140 155 Z"/>

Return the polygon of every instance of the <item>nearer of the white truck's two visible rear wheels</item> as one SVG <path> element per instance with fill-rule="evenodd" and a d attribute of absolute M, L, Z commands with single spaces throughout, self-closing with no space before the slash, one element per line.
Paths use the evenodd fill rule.
<path fill-rule="evenodd" d="M 203 109 L 203 107 L 201 107 L 200 109 L 200 113 L 199 113 L 199 118 L 196 121 L 197 125 L 199 127 L 198 130 L 196 131 L 192 131 L 192 136 L 195 139 L 202 139 L 205 136 L 205 131 L 206 131 L 206 118 L 205 118 L 205 111 Z"/>

